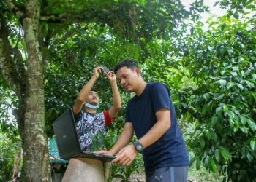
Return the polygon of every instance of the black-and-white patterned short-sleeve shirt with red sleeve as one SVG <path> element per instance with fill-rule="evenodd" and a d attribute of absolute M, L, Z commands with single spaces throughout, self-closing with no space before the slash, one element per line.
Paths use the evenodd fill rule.
<path fill-rule="evenodd" d="M 78 140 L 82 151 L 91 148 L 92 139 L 90 135 L 97 135 L 100 131 L 105 134 L 106 126 L 113 122 L 108 111 L 91 114 L 81 110 L 75 116 L 75 127 L 78 133 Z"/>

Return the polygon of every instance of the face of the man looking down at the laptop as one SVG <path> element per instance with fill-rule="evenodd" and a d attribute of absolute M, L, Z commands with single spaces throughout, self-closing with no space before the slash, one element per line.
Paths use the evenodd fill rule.
<path fill-rule="evenodd" d="M 134 92 L 137 87 L 139 73 L 140 71 L 136 68 L 132 71 L 126 66 L 123 66 L 116 71 L 116 77 L 124 90 L 127 90 L 127 92 Z"/>

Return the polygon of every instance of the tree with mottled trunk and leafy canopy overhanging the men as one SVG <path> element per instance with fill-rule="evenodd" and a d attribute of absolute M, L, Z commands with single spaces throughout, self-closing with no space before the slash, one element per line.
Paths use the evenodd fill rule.
<path fill-rule="evenodd" d="M 13 104 L 24 151 L 21 181 L 50 181 L 45 135 L 50 128 L 45 119 L 56 118 L 70 106 L 75 90 L 83 84 L 74 79 L 87 80 L 84 71 L 110 60 L 91 63 L 97 60 L 97 51 L 104 50 L 94 42 L 108 41 L 108 37 L 119 40 L 124 51 L 132 49 L 128 52 L 139 58 L 137 47 L 146 47 L 152 38 L 172 35 L 183 18 L 197 17 L 181 1 L 4 0 L 0 8 L 1 80 L 3 77 L 17 98 Z M 86 31 L 92 28 L 97 28 L 96 33 Z M 102 31 L 108 31 L 105 37 L 99 36 Z M 116 62 L 111 60 L 107 65 Z"/>

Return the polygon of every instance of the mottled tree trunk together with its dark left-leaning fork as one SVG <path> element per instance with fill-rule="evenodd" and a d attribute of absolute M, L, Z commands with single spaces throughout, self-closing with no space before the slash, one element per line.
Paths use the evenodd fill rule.
<path fill-rule="evenodd" d="M 5 0 L 15 14 L 12 1 Z M 0 68 L 1 74 L 18 95 L 16 116 L 23 146 L 23 169 L 20 181 L 51 181 L 48 142 L 45 135 L 44 66 L 39 46 L 41 1 L 27 0 L 25 10 L 16 12 L 25 33 L 28 58 L 26 66 L 18 50 L 12 47 L 9 29 L 0 11 Z M 23 9 L 22 9 L 23 10 Z M 15 49 L 15 50 L 14 50 Z M 12 54 L 15 56 L 12 58 Z"/>

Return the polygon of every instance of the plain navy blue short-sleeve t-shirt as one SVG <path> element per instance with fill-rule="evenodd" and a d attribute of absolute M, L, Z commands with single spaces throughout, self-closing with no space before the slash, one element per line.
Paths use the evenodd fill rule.
<path fill-rule="evenodd" d="M 170 92 L 160 82 L 148 82 L 140 96 L 135 95 L 127 103 L 126 122 L 131 122 L 137 138 L 146 135 L 157 122 L 156 112 L 160 108 L 170 110 L 171 127 L 159 140 L 143 151 L 146 170 L 159 167 L 181 167 L 189 165 L 189 156 L 181 131 L 178 128 L 176 112 L 170 100 Z"/>

